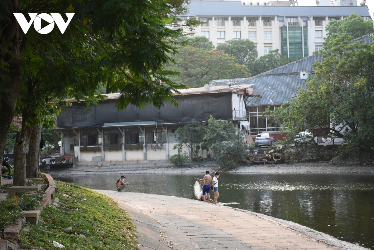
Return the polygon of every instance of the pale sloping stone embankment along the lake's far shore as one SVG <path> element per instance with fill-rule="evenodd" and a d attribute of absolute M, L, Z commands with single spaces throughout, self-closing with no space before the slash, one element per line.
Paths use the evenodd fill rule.
<path fill-rule="evenodd" d="M 250 166 L 241 165 L 227 173 L 374 173 L 374 165 L 333 165 L 327 162 L 311 162 L 296 164 L 278 164 L 278 167 L 266 163 L 253 163 Z M 75 165 L 71 168 L 55 168 L 50 170 L 52 176 L 82 175 L 82 174 L 151 174 L 151 173 L 203 173 L 206 170 L 217 171 L 219 165 L 213 162 L 202 162 L 175 166 L 167 162 L 146 162 L 140 164 L 122 164 L 122 162 L 100 162 Z"/>

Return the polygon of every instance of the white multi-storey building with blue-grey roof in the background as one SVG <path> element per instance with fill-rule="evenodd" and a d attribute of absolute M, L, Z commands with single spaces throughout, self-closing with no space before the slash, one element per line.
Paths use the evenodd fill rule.
<path fill-rule="evenodd" d="M 279 49 L 285 57 L 310 56 L 313 51 L 323 48 L 325 27 L 332 19 L 341 20 L 352 13 L 370 19 L 367 6 L 265 4 L 191 1 L 189 12 L 181 18 L 196 18 L 205 22 L 195 27 L 194 33 L 196 36 L 207 37 L 214 46 L 230 39 L 250 39 L 257 46 L 258 57 L 274 49 Z"/>

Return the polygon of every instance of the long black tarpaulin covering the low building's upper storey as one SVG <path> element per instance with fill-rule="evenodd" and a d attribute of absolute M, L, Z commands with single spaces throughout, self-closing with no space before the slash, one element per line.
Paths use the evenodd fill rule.
<path fill-rule="evenodd" d="M 145 122 L 157 123 L 181 122 L 189 124 L 196 121 L 208 121 L 210 116 L 216 120 L 232 119 L 232 93 L 200 94 L 177 96 L 175 100 L 180 104 L 166 103 L 161 109 L 147 104 L 144 109 L 129 105 L 125 110 L 114 108 L 116 99 L 107 99 L 86 109 L 85 103 L 73 103 L 72 107 L 63 107 L 57 117 L 57 126 L 60 128 L 90 128 L 100 127 L 108 123 L 117 122 Z"/>

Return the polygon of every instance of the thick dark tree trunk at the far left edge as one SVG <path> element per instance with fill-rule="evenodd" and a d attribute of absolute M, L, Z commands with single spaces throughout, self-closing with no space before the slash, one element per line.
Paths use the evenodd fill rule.
<path fill-rule="evenodd" d="M 18 0 L 12 1 L 13 13 L 21 12 L 21 6 Z M 3 24 L 3 23 L 2 23 Z M 1 24 L 1 25 L 2 25 Z M 0 50 L 1 59 L 9 66 L 0 67 L 1 90 L 0 90 L 0 159 L 2 162 L 6 137 L 8 135 L 10 124 L 12 123 L 14 110 L 16 107 L 21 76 L 20 52 L 23 51 L 24 34 L 20 29 L 15 16 L 12 15 L 11 22 L 5 27 L 1 27 Z M 4 53 L 4 49 L 12 53 Z M 1 185 L 1 181 L 0 181 Z"/>

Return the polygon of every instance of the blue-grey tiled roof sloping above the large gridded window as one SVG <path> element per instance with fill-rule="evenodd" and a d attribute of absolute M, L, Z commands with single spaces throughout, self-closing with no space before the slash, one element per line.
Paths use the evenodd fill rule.
<path fill-rule="evenodd" d="M 359 37 L 350 43 L 362 41 L 372 43 L 371 35 Z M 297 88 L 306 88 L 306 81 L 300 79 L 300 71 L 307 71 L 314 76 L 313 64 L 319 60 L 322 54 L 302 58 L 281 67 L 252 76 L 239 84 L 253 84 L 253 94 L 261 95 L 262 98 L 248 98 L 247 105 L 263 106 L 283 104 L 297 94 Z"/>

